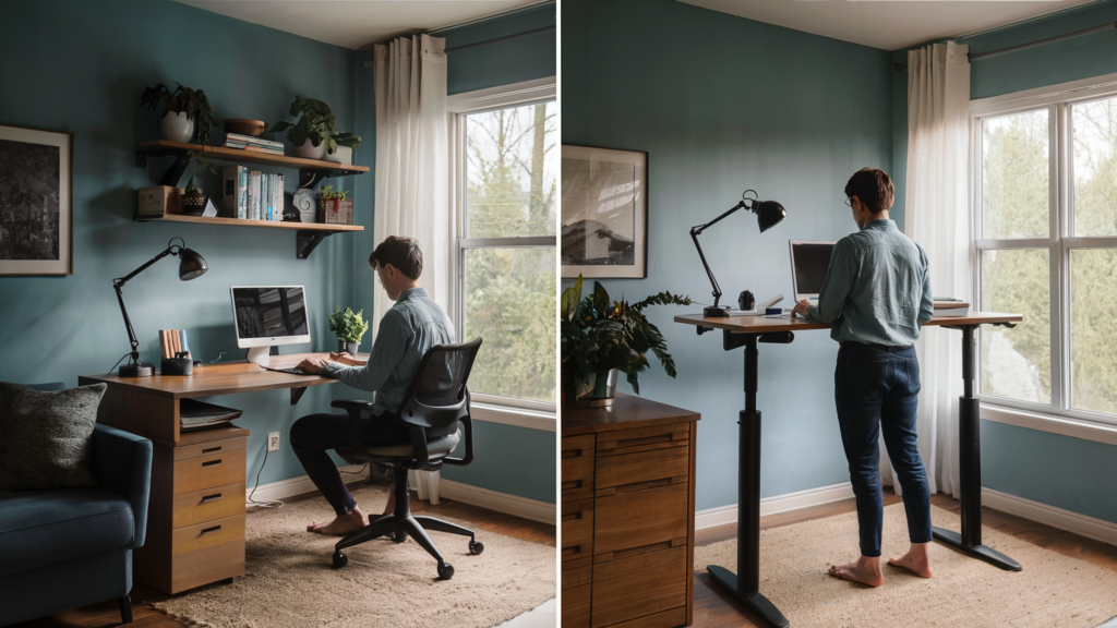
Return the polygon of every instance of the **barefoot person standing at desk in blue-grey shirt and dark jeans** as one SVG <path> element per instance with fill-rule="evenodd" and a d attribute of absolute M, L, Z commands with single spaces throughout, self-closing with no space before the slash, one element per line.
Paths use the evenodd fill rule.
<path fill-rule="evenodd" d="M 888 219 L 892 182 L 877 168 L 846 183 L 847 204 L 860 231 L 834 246 L 818 305 L 801 301 L 793 314 L 830 323 L 838 341 L 834 401 L 842 446 L 857 496 L 861 556 L 831 565 L 830 574 L 870 587 L 884 583 L 878 435 L 904 488 L 908 553 L 888 562 L 930 578 L 930 494 L 916 446 L 919 322 L 934 313 L 927 256 Z"/>

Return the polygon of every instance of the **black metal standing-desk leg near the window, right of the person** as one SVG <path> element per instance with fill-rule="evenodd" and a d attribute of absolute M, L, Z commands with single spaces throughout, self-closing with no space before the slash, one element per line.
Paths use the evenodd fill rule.
<path fill-rule="evenodd" d="M 974 331 L 977 325 L 960 325 L 962 330 L 962 379 L 965 394 L 958 398 L 958 475 L 962 486 L 962 533 L 932 527 L 932 535 L 943 543 L 974 558 L 1010 571 L 1020 571 L 1020 563 L 981 544 L 981 419 L 977 394 L 974 392 Z"/>

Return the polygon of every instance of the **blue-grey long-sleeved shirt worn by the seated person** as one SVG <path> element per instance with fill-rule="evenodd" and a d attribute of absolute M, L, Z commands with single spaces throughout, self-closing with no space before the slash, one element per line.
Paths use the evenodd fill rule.
<path fill-rule="evenodd" d="M 419 362 L 437 344 L 454 341 L 454 327 L 446 312 L 422 288 L 403 291 L 395 305 L 380 321 L 372 354 L 363 367 L 330 362 L 322 374 L 353 388 L 375 392 L 372 413 L 399 411 L 414 379 Z"/>

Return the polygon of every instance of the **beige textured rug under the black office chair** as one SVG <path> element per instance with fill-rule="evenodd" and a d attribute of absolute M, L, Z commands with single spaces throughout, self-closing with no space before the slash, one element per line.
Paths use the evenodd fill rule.
<path fill-rule="evenodd" d="M 369 487 L 353 496 L 369 513 L 383 510 L 388 493 Z M 306 532 L 308 522 L 332 517 L 322 497 L 250 513 L 244 575 L 153 606 L 213 628 L 489 628 L 555 597 L 554 548 L 476 529 L 485 544 L 477 556 L 469 555 L 467 536 L 431 533 L 454 565 L 451 580 L 437 580 L 435 559 L 410 537 L 349 548 L 349 564 L 334 570 L 338 537 Z"/>

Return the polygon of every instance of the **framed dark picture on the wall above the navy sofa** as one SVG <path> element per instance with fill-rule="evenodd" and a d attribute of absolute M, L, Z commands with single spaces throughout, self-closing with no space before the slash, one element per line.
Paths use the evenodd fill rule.
<path fill-rule="evenodd" d="M 74 134 L 0 124 L 0 276 L 74 274 Z"/>

